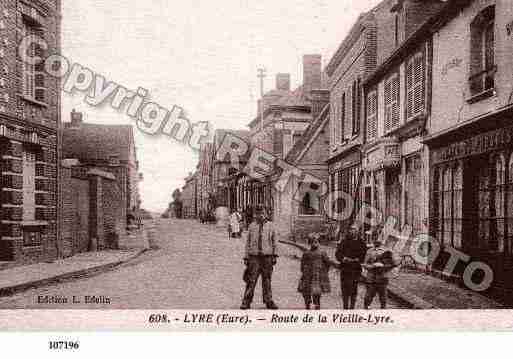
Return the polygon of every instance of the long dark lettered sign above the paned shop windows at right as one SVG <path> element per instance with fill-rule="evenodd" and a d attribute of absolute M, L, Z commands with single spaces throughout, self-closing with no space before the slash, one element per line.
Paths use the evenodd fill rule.
<path fill-rule="evenodd" d="M 434 163 L 475 156 L 513 145 L 513 127 L 490 131 L 433 152 Z"/>

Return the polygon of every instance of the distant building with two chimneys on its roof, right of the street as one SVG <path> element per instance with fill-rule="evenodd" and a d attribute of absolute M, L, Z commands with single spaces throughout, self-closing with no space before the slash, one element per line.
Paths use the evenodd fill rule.
<path fill-rule="evenodd" d="M 285 159 L 302 138 L 313 120 L 312 91 L 323 87 L 321 55 L 303 56 L 303 84 L 291 90 L 290 75 L 276 75 L 276 88 L 258 101 L 257 116 L 249 123 L 251 148 L 258 148 L 278 159 Z M 274 168 L 259 179 L 239 175 L 232 185 L 240 211 L 251 216 L 256 205 L 263 206 L 276 219 L 277 193 L 274 190 Z"/>

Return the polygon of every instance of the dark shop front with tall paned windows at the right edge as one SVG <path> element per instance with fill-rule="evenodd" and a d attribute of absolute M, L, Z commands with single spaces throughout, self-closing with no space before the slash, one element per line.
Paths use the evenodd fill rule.
<path fill-rule="evenodd" d="M 495 287 L 512 290 L 513 126 L 472 132 L 429 142 L 430 232 L 487 263 Z"/>

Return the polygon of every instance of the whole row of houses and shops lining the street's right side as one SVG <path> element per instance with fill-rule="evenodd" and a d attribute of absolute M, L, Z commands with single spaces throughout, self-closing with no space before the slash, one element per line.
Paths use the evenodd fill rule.
<path fill-rule="evenodd" d="M 294 199 L 308 176 L 276 191 L 278 166 L 256 180 L 217 156 L 229 132 L 395 218 L 399 230 L 484 260 L 496 286 L 511 290 L 512 32 L 509 0 L 382 1 L 326 66 L 304 56 L 301 86 L 278 74 L 249 131 L 216 131 L 194 174 L 196 208 L 263 205 L 283 237 L 329 226 L 326 196 Z"/>

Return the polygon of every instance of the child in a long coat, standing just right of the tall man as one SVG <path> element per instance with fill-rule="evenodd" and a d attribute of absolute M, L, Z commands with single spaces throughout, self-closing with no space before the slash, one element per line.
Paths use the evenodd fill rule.
<path fill-rule="evenodd" d="M 328 270 L 332 262 L 319 248 L 319 240 L 310 240 L 310 250 L 301 258 L 301 279 L 298 292 L 303 294 L 307 310 L 313 302 L 315 309 L 321 309 L 321 295 L 331 291 Z"/>

